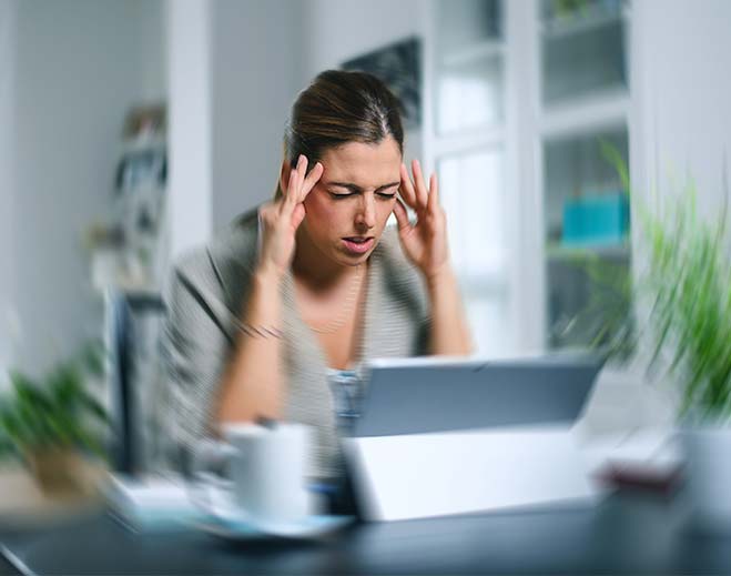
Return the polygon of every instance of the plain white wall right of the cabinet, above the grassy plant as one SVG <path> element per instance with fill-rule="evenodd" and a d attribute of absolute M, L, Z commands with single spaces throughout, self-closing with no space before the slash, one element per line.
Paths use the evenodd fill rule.
<path fill-rule="evenodd" d="M 642 0 L 632 20 L 638 188 L 646 195 L 654 188 L 679 192 L 672 179 L 689 173 L 699 205 L 717 213 L 724 162 L 731 170 L 731 2 Z"/>

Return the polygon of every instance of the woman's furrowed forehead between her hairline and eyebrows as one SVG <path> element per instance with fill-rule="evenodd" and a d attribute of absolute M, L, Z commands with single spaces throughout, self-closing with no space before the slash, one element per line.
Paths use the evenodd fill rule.
<path fill-rule="evenodd" d="M 348 142 L 329 149 L 321 162 L 325 169 L 323 180 L 327 182 L 336 180 L 380 185 L 394 178 L 398 179 L 402 155 L 396 141 L 388 138 L 378 144 Z"/>

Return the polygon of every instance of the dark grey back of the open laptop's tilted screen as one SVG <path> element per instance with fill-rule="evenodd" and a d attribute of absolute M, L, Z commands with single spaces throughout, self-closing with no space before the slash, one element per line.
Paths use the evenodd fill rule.
<path fill-rule="evenodd" d="M 374 360 L 352 436 L 571 424 L 602 364 L 589 354 Z"/>

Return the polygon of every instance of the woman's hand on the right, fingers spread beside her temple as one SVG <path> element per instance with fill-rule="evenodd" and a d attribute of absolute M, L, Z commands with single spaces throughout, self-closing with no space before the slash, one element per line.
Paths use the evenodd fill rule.
<path fill-rule="evenodd" d="M 400 196 L 415 212 L 417 221 L 408 221 L 406 206 L 400 200 L 394 204 L 398 221 L 398 236 L 406 256 L 422 271 L 427 281 L 449 271 L 447 249 L 447 218 L 439 205 L 436 174 L 429 179 L 427 190 L 418 160 L 412 161 L 414 182 L 406 165 L 402 164 Z"/>

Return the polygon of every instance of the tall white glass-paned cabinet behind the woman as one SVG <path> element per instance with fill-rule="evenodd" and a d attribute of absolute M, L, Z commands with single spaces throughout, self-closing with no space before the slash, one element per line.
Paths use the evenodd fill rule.
<path fill-rule="evenodd" d="M 568 269 L 631 265 L 629 230 L 611 244 L 564 238 L 567 201 L 622 192 L 599 142 L 629 165 L 629 3 L 572 6 L 433 0 L 424 152 L 480 354 L 581 345 L 551 335 L 596 291 Z"/>

